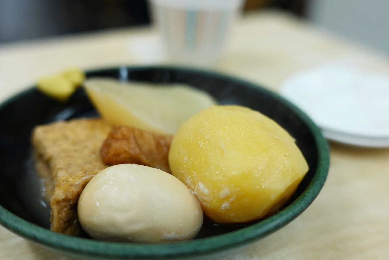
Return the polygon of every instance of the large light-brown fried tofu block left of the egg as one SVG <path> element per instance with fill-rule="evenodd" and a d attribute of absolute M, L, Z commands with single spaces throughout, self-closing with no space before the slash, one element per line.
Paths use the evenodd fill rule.
<path fill-rule="evenodd" d="M 34 129 L 32 143 L 37 170 L 45 179 L 51 230 L 80 234 L 77 202 L 89 180 L 108 167 L 99 151 L 111 129 L 103 119 L 74 119 Z"/>

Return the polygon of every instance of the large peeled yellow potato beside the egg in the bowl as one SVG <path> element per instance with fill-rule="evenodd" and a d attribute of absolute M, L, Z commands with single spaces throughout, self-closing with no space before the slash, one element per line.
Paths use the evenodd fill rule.
<path fill-rule="evenodd" d="M 182 124 L 169 164 L 218 223 L 275 213 L 296 190 L 308 165 L 294 139 L 247 107 L 212 106 Z"/>

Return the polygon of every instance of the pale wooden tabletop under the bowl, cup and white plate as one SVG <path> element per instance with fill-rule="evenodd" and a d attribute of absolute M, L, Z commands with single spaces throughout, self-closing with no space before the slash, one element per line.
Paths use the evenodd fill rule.
<path fill-rule="evenodd" d="M 0 45 L 0 100 L 68 66 L 159 63 L 156 41 L 154 31 L 138 28 Z M 333 60 L 389 73 L 388 57 L 269 11 L 237 23 L 216 69 L 277 90 L 294 72 Z M 389 259 L 389 149 L 330 146 L 328 179 L 314 203 L 287 227 L 224 260 Z M 0 259 L 69 258 L 0 227 Z"/>

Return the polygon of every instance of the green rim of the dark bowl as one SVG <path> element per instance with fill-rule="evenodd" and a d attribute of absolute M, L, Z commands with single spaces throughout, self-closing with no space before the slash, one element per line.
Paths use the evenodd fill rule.
<path fill-rule="evenodd" d="M 241 79 L 239 77 L 230 76 L 214 70 L 201 70 L 189 67 L 178 67 L 170 65 L 156 65 L 156 66 L 117 66 L 107 67 L 102 69 L 87 70 L 86 74 L 96 74 L 107 71 L 120 72 L 121 69 L 130 71 L 136 70 L 164 70 L 173 69 L 184 72 L 196 72 L 200 74 L 206 74 L 212 77 L 218 77 L 230 82 L 244 84 L 245 86 L 265 92 L 267 95 L 272 96 L 277 101 L 280 101 L 289 107 L 312 133 L 317 148 L 317 168 L 312 176 L 312 181 L 308 184 L 307 188 L 284 209 L 261 220 L 258 223 L 252 224 L 249 227 L 244 227 L 235 231 L 231 231 L 225 234 L 214 235 L 212 237 L 199 238 L 191 241 L 179 241 L 168 242 L 159 244 L 135 244 L 135 243 L 120 243 L 120 242 L 107 242 L 97 241 L 91 239 L 85 239 L 81 237 L 75 237 L 65 234 L 53 232 L 47 228 L 40 227 L 33 223 L 30 223 L 23 218 L 16 216 L 4 207 L 0 205 L 0 224 L 12 232 L 25 237 L 26 239 L 37 242 L 43 246 L 56 249 L 58 251 L 70 251 L 77 255 L 86 256 L 105 256 L 105 257 L 137 257 L 151 258 L 151 257 L 173 257 L 173 256 L 185 256 L 185 255 L 202 255 L 215 251 L 223 251 L 227 248 L 235 248 L 259 240 L 266 235 L 273 233 L 280 228 L 287 225 L 289 222 L 299 216 L 317 197 L 321 191 L 324 182 L 326 180 L 329 168 L 329 148 L 326 139 L 324 139 L 321 130 L 315 125 L 315 123 L 298 107 L 291 102 L 281 97 L 272 90 L 266 89 L 260 84 L 252 83 L 250 81 Z M 0 104 L 0 110 L 3 107 L 18 97 L 25 95 L 26 93 L 33 91 L 34 86 L 25 91 L 22 91 Z"/>

